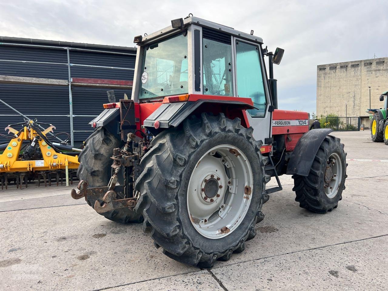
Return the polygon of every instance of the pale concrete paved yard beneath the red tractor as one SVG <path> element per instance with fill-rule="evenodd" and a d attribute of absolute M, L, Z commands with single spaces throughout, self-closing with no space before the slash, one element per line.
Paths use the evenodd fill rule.
<path fill-rule="evenodd" d="M 171 260 L 141 225 L 106 220 L 66 187 L 11 186 L 0 192 L 0 290 L 387 290 L 388 173 L 378 160 L 388 146 L 367 131 L 335 135 L 349 163 L 338 208 L 299 208 L 282 176 L 257 236 L 211 270 Z"/>

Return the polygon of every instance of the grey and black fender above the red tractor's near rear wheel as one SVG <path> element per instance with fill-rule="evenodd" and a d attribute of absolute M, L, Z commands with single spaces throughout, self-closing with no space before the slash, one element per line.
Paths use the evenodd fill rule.
<path fill-rule="evenodd" d="M 156 120 L 160 123 L 160 128 L 169 128 L 170 126 L 178 126 L 182 121 L 187 118 L 196 108 L 204 103 L 218 103 L 235 105 L 236 107 L 244 107 L 244 109 L 254 109 L 249 104 L 238 102 L 238 101 L 227 101 L 227 100 L 198 100 L 196 102 L 177 102 L 177 103 L 163 103 L 158 109 L 154 111 L 146 120 L 143 125 L 146 127 L 154 127 Z"/>

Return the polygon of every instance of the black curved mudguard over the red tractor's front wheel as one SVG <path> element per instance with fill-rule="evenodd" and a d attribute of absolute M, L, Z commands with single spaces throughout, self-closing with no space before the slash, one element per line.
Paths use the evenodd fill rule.
<path fill-rule="evenodd" d="M 291 154 L 287 166 L 287 175 L 307 177 L 320 145 L 331 132 L 333 132 L 331 128 L 319 128 L 302 135 Z"/>

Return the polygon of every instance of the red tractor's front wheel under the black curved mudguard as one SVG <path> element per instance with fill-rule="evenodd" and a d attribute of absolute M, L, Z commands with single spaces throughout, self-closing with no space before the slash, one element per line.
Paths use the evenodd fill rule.
<path fill-rule="evenodd" d="M 346 152 L 340 139 L 328 135 L 320 145 L 307 177 L 293 175 L 295 201 L 301 208 L 326 213 L 337 208 L 345 189 Z"/>

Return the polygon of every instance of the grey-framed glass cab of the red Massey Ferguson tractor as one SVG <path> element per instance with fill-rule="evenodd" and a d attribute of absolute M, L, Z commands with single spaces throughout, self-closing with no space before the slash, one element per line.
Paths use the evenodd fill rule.
<path fill-rule="evenodd" d="M 277 49 L 272 58 L 253 31 L 243 33 L 197 17 L 175 19 L 171 26 L 151 35 L 136 36 L 134 42 L 138 45 L 134 102 L 203 100 L 208 107 L 219 101 L 235 104 L 240 110 L 245 106 L 247 123 L 267 128 L 257 130 L 255 138 L 264 142 L 269 137 L 268 111 L 277 107 L 272 63 L 279 64 L 284 50 Z M 264 55 L 270 57 L 270 83 Z M 169 113 L 163 114 L 163 110 Z M 162 128 L 171 125 L 171 120 L 160 120 L 161 115 L 171 117 L 171 107 L 161 107 L 156 115 Z M 152 128 L 153 117 L 144 125 Z"/>

